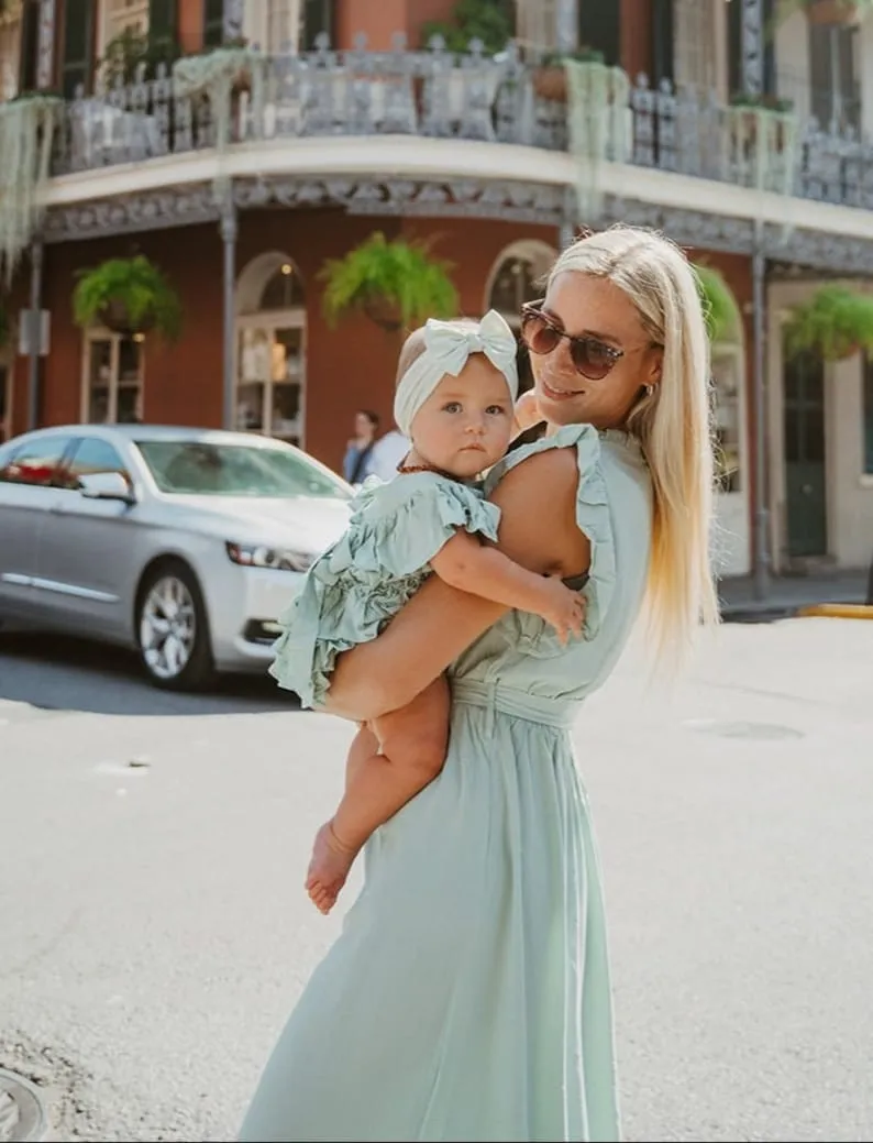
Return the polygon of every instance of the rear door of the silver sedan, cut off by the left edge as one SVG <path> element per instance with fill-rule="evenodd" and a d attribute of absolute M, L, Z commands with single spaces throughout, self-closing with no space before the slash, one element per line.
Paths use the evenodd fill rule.
<path fill-rule="evenodd" d="M 0 610 L 9 618 L 39 618 L 34 583 L 39 534 L 49 515 L 57 478 L 72 437 L 40 433 L 0 455 Z"/>

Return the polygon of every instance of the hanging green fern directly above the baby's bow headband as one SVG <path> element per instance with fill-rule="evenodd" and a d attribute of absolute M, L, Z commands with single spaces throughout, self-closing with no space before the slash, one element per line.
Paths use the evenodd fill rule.
<path fill-rule="evenodd" d="M 330 325 L 353 310 L 389 333 L 426 318 L 457 312 L 450 263 L 434 258 L 430 245 L 395 239 L 377 231 L 344 258 L 330 258 L 319 278 L 326 283 L 323 310 Z"/>

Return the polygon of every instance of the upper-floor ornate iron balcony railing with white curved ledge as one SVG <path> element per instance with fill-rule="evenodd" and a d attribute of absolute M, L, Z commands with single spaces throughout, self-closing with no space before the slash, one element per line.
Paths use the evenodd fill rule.
<path fill-rule="evenodd" d="M 367 170 L 572 185 L 579 154 L 570 117 L 582 114 L 602 128 L 587 159 L 602 162 L 610 190 L 628 197 L 644 169 L 697 181 L 688 193 L 713 211 L 727 184 L 873 207 L 873 145 L 851 127 L 729 105 L 666 82 L 652 88 L 644 75 L 615 69 L 609 75 L 596 105 L 579 107 L 555 88 L 560 69 L 514 50 L 489 57 L 475 45 L 462 56 L 439 41 L 426 51 L 400 42 L 382 53 L 363 43 L 336 53 L 326 42 L 299 55 L 249 51 L 223 86 L 194 90 L 160 66 L 154 79 L 63 104 L 46 205 L 99 198 L 110 193 L 107 181 L 111 193 L 135 193 L 221 173 Z"/>

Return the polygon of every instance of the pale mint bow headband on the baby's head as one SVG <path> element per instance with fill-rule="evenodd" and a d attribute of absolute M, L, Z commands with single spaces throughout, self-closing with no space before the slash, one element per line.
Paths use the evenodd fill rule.
<path fill-rule="evenodd" d="M 496 310 L 489 310 L 481 321 L 467 327 L 430 318 L 424 327 L 424 353 L 403 374 L 394 394 L 394 421 L 405 437 L 410 435 L 413 418 L 446 374 L 457 377 L 471 353 L 484 353 L 506 378 L 510 395 L 515 400 L 518 343 Z"/>

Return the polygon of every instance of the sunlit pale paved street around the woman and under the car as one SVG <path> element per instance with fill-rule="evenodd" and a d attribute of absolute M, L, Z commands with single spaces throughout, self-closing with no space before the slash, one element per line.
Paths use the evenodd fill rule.
<path fill-rule="evenodd" d="M 338 929 L 301 882 L 350 736 L 0 637 L 0 1066 L 51 1138 L 233 1137 Z M 726 626 L 672 694 L 631 653 L 576 740 L 627 1138 L 873 1141 L 873 623 Z"/>

